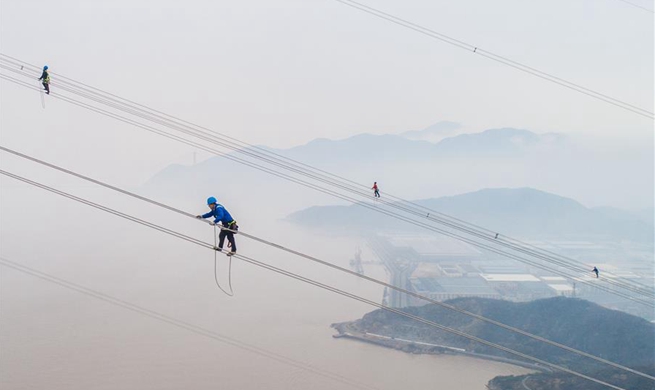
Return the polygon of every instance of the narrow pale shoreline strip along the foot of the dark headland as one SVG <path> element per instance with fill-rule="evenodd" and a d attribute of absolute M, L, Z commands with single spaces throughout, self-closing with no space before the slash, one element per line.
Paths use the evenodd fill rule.
<path fill-rule="evenodd" d="M 468 356 L 478 359 L 490 360 L 500 363 L 512 364 L 522 368 L 536 370 L 539 372 L 551 372 L 550 369 L 538 364 L 528 363 L 520 360 L 505 358 L 501 356 L 486 355 L 476 352 L 467 351 L 463 348 L 456 348 L 447 345 L 430 344 L 422 341 L 407 340 L 383 336 L 375 333 L 362 332 L 352 326 L 352 322 L 341 322 L 330 325 L 338 333 L 332 335 L 335 339 L 345 338 L 368 344 L 379 345 L 385 348 L 395 349 L 405 353 L 423 354 L 423 355 L 459 355 Z"/>

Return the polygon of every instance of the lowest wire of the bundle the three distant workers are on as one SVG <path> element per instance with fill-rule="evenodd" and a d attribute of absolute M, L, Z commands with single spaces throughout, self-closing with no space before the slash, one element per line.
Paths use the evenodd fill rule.
<path fill-rule="evenodd" d="M 22 85 L 22 86 L 24 86 L 24 87 L 34 89 L 34 87 L 32 87 L 31 85 L 26 85 L 24 82 L 20 82 L 20 81 L 18 81 L 18 80 L 16 80 L 16 79 L 13 79 L 13 78 L 11 78 L 11 77 L 8 77 L 8 76 L 2 75 L 2 74 L 0 74 L 0 77 L 1 77 L 1 78 L 4 78 L 4 79 L 7 79 L 7 80 L 9 80 L 9 81 L 12 81 L 12 82 L 14 82 L 14 83 L 17 83 L 17 84 L 19 84 L 19 85 Z M 579 282 L 581 282 L 581 283 L 589 284 L 589 282 L 587 282 L 587 281 L 585 281 L 585 280 L 583 280 L 583 279 L 580 279 L 580 277 L 578 277 L 578 276 L 572 276 L 572 275 L 569 275 L 569 274 L 563 273 L 562 271 L 560 271 L 560 270 L 558 270 L 558 269 L 552 269 L 552 268 L 545 267 L 545 266 L 543 266 L 543 265 L 541 265 L 541 264 L 539 264 L 539 263 L 529 262 L 529 261 L 527 261 L 526 259 L 521 258 L 521 257 L 517 257 L 517 256 L 515 256 L 515 255 L 511 255 L 511 254 L 508 255 L 507 252 L 498 251 L 498 250 L 496 250 L 496 248 L 491 248 L 491 249 L 490 249 L 490 247 L 489 247 L 488 245 L 481 244 L 481 243 L 476 242 L 476 241 L 474 241 L 474 240 L 469 240 L 469 239 L 464 238 L 464 237 L 462 237 L 462 236 L 454 235 L 454 234 L 452 234 L 452 233 L 450 233 L 450 232 L 444 231 L 443 229 L 437 229 L 437 228 L 435 228 L 435 227 L 433 227 L 433 226 L 431 226 L 431 225 L 426 225 L 426 224 L 424 224 L 424 223 L 421 223 L 421 222 L 418 222 L 418 221 L 415 221 L 415 220 L 412 220 L 412 219 L 408 219 L 408 218 L 406 218 L 406 217 L 399 216 L 399 215 L 397 215 L 397 214 L 394 214 L 394 213 L 388 212 L 388 211 L 386 211 L 386 210 L 381 210 L 381 209 L 379 209 L 379 208 L 377 208 L 377 207 L 372 207 L 372 206 L 370 206 L 370 205 L 368 205 L 368 204 L 358 203 L 358 201 L 357 201 L 356 199 L 353 199 L 352 197 L 347 197 L 347 196 L 344 196 L 344 195 L 342 195 L 342 194 L 338 194 L 338 193 L 336 193 L 336 192 L 334 192 L 334 191 L 331 191 L 331 190 L 329 190 L 329 189 L 325 189 L 325 188 L 323 188 L 323 187 L 319 187 L 319 186 L 317 186 L 317 185 L 315 185 L 315 184 L 311 184 L 311 183 L 304 182 L 304 181 L 302 181 L 302 180 L 299 180 L 299 179 L 297 179 L 297 178 L 295 178 L 295 177 L 292 177 L 292 176 L 289 176 L 289 175 L 281 174 L 280 172 L 276 172 L 276 171 L 271 170 L 271 169 L 269 169 L 269 168 L 262 167 L 261 165 L 253 164 L 252 162 L 249 162 L 249 161 L 246 161 L 246 160 L 243 160 L 243 159 L 240 159 L 240 158 L 234 157 L 234 156 L 232 156 L 232 155 L 225 155 L 223 151 L 218 151 L 218 150 L 216 150 L 216 149 L 209 149 L 209 148 L 207 148 L 207 147 L 206 147 L 205 145 L 203 145 L 203 144 L 194 143 L 194 142 L 188 141 L 188 140 L 186 140 L 186 139 L 184 139 L 184 138 L 181 138 L 181 137 L 178 137 L 178 136 L 170 135 L 170 134 L 168 134 L 168 133 L 162 132 L 162 131 L 159 130 L 159 129 L 153 128 L 153 127 L 151 127 L 151 126 L 143 125 L 143 124 L 141 124 L 141 123 L 139 123 L 139 122 L 135 122 L 135 121 L 133 121 L 133 120 L 130 120 L 130 119 L 127 119 L 127 118 L 124 118 L 124 117 L 120 117 L 120 116 L 118 116 L 117 114 L 114 114 L 114 113 L 111 113 L 111 112 L 107 112 L 107 111 L 105 111 L 105 110 L 98 109 L 98 108 L 96 108 L 96 107 L 94 107 L 94 106 L 90 106 L 90 105 L 88 105 L 88 104 L 84 104 L 84 103 L 80 103 L 80 102 L 74 101 L 74 100 L 72 100 L 72 99 L 70 99 L 70 98 L 67 98 L 67 97 L 64 97 L 64 96 L 58 96 L 58 95 L 55 95 L 55 96 L 53 96 L 53 97 L 58 98 L 58 99 L 65 100 L 65 101 L 67 101 L 67 102 L 73 103 L 73 104 L 78 105 L 78 106 L 81 106 L 81 107 L 83 107 L 83 108 L 90 109 L 91 111 L 98 112 L 98 113 L 101 113 L 101 114 L 103 114 L 103 115 L 106 115 L 106 116 L 109 116 L 109 117 L 112 117 L 112 118 L 118 119 L 118 120 L 123 121 L 123 122 L 125 122 L 125 123 L 132 124 L 132 125 L 134 125 L 134 126 L 137 126 L 137 127 L 143 128 L 143 129 L 148 130 L 148 131 L 151 131 L 151 132 L 153 132 L 153 133 L 156 133 L 156 134 L 162 135 L 162 136 L 164 136 L 164 137 L 167 137 L 167 138 L 170 138 L 170 139 L 176 140 L 176 141 L 178 141 L 178 142 L 182 142 L 182 143 L 185 143 L 185 144 L 187 144 L 187 145 L 195 146 L 195 147 L 197 147 L 198 149 L 205 150 L 205 151 L 209 151 L 209 152 L 211 152 L 211 153 L 217 154 L 217 155 L 219 155 L 219 156 L 221 156 L 221 157 L 224 157 L 224 158 L 226 158 L 226 159 L 229 159 L 229 160 L 232 160 L 232 161 L 235 161 L 235 162 L 238 162 L 238 163 L 244 164 L 244 165 L 246 165 L 246 166 L 252 167 L 252 168 L 254 168 L 254 169 L 257 169 L 257 170 L 260 170 L 260 171 L 263 171 L 263 172 L 266 172 L 266 173 L 270 173 L 270 174 L 272 174 L 272 175 L 274 175 L 274 176 L 278 176 L 278 177 L 283 178 L 283 179 L 285 179 L 285 180 L 289 180 L 289 181 L 295 182 L 295 183 L 297 183 L 297 184 L 303 185 L 303 186 L 305 186 L 305 187 L 315 189 L 315 190 L 317 190 L 317 191 L 319 191 L 319 192 L 323 192 L 323 193 L 326 193 L 326 194 L 329 194 L 329 195 L 335 196 L 335 197 L 337 197 L 337 198 L 340 198 L 340 199 L 343 199 L 343 200 L 347 200 L 347 201 L 349 201 L 349 202 L 353 202 L 353 203 L 355 203 L 355 204 L 357 204 L 357 205 L 359 205 L 359 206 L 362 206 L 362 207 L 365 207 L 365 208 L 369 208 L 369 209 L 371 209 L 371 210 L 373 210 L 373 211 L 376 211 L 376 212 L 379 212 L 379 213 L 382 213 L 382 214 L 385 214 L 385 215 L 389 215 L 389 216 L 391 216 L 391 217 L 393 217 L 393 218 L 396 218 L 396 219 L 399 219 L 399 220 L 403 220 L 403 221 L 405 221 L 405 222 L 412 223 L 412 224 L 414 224 L 414 225 L 416 225 L 416 226 L 425 227 L 425 228 L 428 229 L 428 230 L 432 230 L 432 231 L 434 231 L 434 232 L 438 232 L 438 233 L 444 234 L 444 235 L 446 235 L 446 236 L 449 236 L 449 237 L 452 237 L 452 238 L 459 239 L 460 241 L 464 241 L 464 242 L 470 243 L 470 244 L 472 244 L 472 245 L 478 246 L 478 247 L 480 247 L 480 248 L 490 250 L 491 252 L 494 252 L 494 253 L 497 253 L 497 254 L 501 254 L 501 255 L 503 255 L 503 256 L 505 256 L 505 257 L 508 257 L 508 258 L 512 258 L 512 259 L 515 259 L 515 260 L 522 261 L 522 262 L 524 262 L 524 263 L 526 263 L 526 264 L 533 265 L 533 266 L 536 266 L 537 268 L 541 268 L 541 269 L 544 269 L 544 270 L 547 270 L 547 271 L 553 272 L 553 273 L 555 273 L 555 274 L 559 274 L 559 275 L 565 276 L 565 277 L 567 277 L 567 278 L 569 278 L 569 279 L 573 279 L 573 280 L 579 281 Z M 170 127 L 170 126 L 169 126 L 169 127 Z M 222 144 L 222 146 L 224 146 L 224 147 L 226 147 L 226 148 L 233 148 L 232 146 L 230 146 L 230 145 L 225 145 L 225 144 Z M 452 225 L 451 225 L 451 226 L 452 226 Z M 462 230 L 462 229 L 460 229 L 460 230 Z M 466 230 L 464 229 L 464 231 L 466 231 Z M 491 240 L 491 237 L 487 236 L 486 234 L 483 234 L 483 235 L 479 235 L 479 234 L 477 234 L 477 235 L 480 236 L 480 237 L 482 237 L 482 238 L 484 238 L 484 239 L 486 239 L 486 240 Z M 503 246 L 511 246 L 511 244 L 507 244 L 507 243 L 503 242 L 502 240 L 499 241 L 499 240 L 494 239 L 492 242 L 493 242 L 493 243 L 498 243 L 498 244 L 503 245 Z M 520 251 L 520 252 L 523 252 L 523 253 L 528 253 L 529 255 L 532 255 L 533 257 L 538 257 L 538 258 L 542 258 L 542 259 L 549 260 L 547 257 L 544 257 L 543 255 L 539 255 L 539 254 L 535 255 L 535 254 L 531 253 L 530 251 L 527 251 L 527 252 L 526 252 L 526 250 L 523 249 L 523 248 L 518 248 L 518 249 L 516 249 L 516 248 L 511 248 L 511 249 L 515 249 L 515 250 Z M 522 259 L 522 260 L 521 260 L 521 259 Z M 556 264 L 558 264 L 559 266 L 562 266 L 562 267 L 565 267 L 565 268 L 566 268 L 566 264 L 561 263 L 561 261 L 558 260 L 558 259 L 551 258 L 550 261 L 551 261 L 551 262 L 554 262 L 554 263 L 556 263 Z M 652 291 L 646 291 L 646 290 L 643 290 L 643 291 L 642 291 L 642 290 L 639 290 L 640 287 L 635 287 L 635 286 L 632 286 L 631 284 L 625 284 L 625 283 L 622 283 L 622 282 L 617 282 L 617 281 L 614 281 L 614 280 L 612 280 L 612 279 L 606 279 L 606 281 L 607 281 L 608 284 L 618 285 L 620 288 L 624 288 L 624 289 L 632 290 L 632 291 L 635 291 L 635 292 L 640 293 L 640 294 L 649 294 L 649 293 L 652 294 Z M 591 285 L 591 284 L 590 284 L 590 285 Z M 621 293 L 619 293 L 619 292 L 616 292 L 616 290 L 608 289 L 608 288 L 606 288 L 605 286 L 600 286 L 600 285 L 593 285 L 593 286 L 595 286 L 596 288 L 599 288 L 599 289 L 601 289 L 601 290 L 605 290 L 605 291 L 607 291 L 607 292 L 614 293 L 615 295 L 622 296 L 622 297 L 624 297 L 624 298 L 626 298 L 626 299 L 630 299 L 630 300 L 635 301 L 635 299 L 632 298 L 632 297 L 630 297 L 629 295 L 621 294 Z M 642 303 L 642 304 L 649 305 L 649 306 L 653 306 L 653 303 L 652 303 L 651 301 L 638 301 L 638 302 L 640 302 L 640 303 Z"/>

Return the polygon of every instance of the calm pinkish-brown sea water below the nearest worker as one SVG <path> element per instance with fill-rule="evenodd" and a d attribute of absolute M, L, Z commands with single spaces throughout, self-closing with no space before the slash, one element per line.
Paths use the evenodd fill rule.
<path fill-rule="evenodd" d="M 2 255 L 373 388 L 482 390 L 496 375 L 528 372 L 468 357 L 410 355 L 333 339 L 331 323 L 359 318 L 373 308 L 238 261 L 236 296 L 229 298 L 214 284 L 211 251 L 110 219 L 84 240 L 65 233 L 84 231 L 83 223 L 60 224 L 61 231 L 39 232 L 39 245 L 30 234 L 38 227 L 12 229 L 12 234 L 4 230 Z M 173 224 L 212 239 L 203 226 Z M 325 237 L 283 223 L 248 230 L 343 266 L 362 246 L 357 239 Z M 381 300 L 379 286 L 238 239 L 244 255 Z M 364 260 L 371 260 L 363 248 Z M 226 258 L 219 261 L 225 278 Z M 386 279 L 379 266 L 368 265 L 366 272 Z M 354 387 L 0 267 L 0 388 Z"/>

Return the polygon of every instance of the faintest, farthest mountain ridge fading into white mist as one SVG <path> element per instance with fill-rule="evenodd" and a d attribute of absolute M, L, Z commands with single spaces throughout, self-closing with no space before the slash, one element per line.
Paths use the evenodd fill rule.
<path fill-rule="evenodd" d="M 409 199 L 436 198 L 480 188 L 535 187 L 603 205 L 626 202 L 626 193 L 631 207 L 652 203 L 652 178 L 650 182 L 643 178 L 639 158 L 613 162 L 603 155 L 599 161 L 557 134 L 504 128 L 457 135 L 437 144 L 402 135 L 359 134 L 342 140 L 317 139 L 290 149 L 267 149 L 357 183 L 377 181 L 383 196 L 389 191 Z M 240 152 L 226 155 L 289 173 Z M 244 207 L 270 202 L 276 205 L 270 210 L 276 218 L 303 207 L 334 203 L 333 197 L 220 157 L 192 166 L 166 167 L 143 190 L 181 199 L 202 199 L 211 193 L 228 205 L 239 202 Z"/>

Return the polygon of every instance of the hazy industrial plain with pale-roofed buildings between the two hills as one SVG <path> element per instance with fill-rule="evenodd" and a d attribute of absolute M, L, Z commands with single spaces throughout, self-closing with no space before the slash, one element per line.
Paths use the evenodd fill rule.
<path fill-rule="evenodd" d="M 370 246 L 394 286 L 438 301 L 462 297 L 529 301 L 575 294 L 572 283 L 562 277 L 533 275 L 522 264 L 486 258 L 477 248 L 448 237 L 385 235 L 371 239 Z M 388 291 L 387 300 L 396 308 L 425 304 L 395 290 Z"/>

